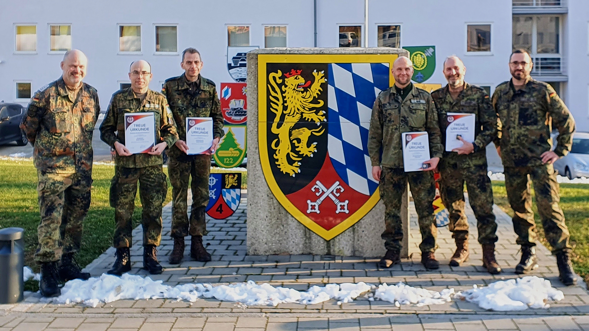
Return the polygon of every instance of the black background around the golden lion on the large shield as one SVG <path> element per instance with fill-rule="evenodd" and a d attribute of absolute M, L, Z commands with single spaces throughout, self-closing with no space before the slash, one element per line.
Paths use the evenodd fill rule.
<path fill-rule="evenodd" d="M 323 100 L 323 106 L 319 109 L 324 112 L 324 116 L 326 121 L 329 121 L 327 118 L 327 64 L 326 63 L 269 63 L 266 66 L 266 81 L 268 81 L 267 75 L 272 72 L 278 72 L 279 70 L 282 71 L 282 83 L 278 84 L 278 87 L 282 91 L 282 86 L 284 84 L 284 74 L 290 73 L 291 70 L 302 70 L 300 75 L 305 78 L 305 82 L 310 81 L 311 84 L 315 82 L 315 76 L 313 76 L 313 71 L 316 70 L 317 72 L 324 71 L 325 72 L 325 81 L 321 84 L 321 88 L 323 89 L 321 93 L 317 96 L 316 99 L 313 99 L 313 103 L 316 103 L 316 100 Z M 309 85 L 310 87 L 310 85 Z M 295 174 L 294 177 L 290 176 L 290 174 L 284 174 L 279 168 L 276 166 L 276 158 L 274 158 L 274 153 L 276 150 L 272 148 L 272 143 L 274 140 L 278 139 L 278 135 L 272 133 L 272 123 L 276 118 L 276 114 L 270 110 L 270 88 L 266 86 L 267 89 L 267 100 L 266 100 L 266 118 L 267 118 L 267 148 L 268 148 L 268 160 L 270 161 L 270 168 L 272 168 L 272 173 L 274 178 L 276 178 L 276 183 L 280 187 L 280 190 L 284 193 L 284 195 L 294 193 L 301 188 L 307 186 L 313 178 L 317 176 L 319 170 L 323 166 L 323 162 L 325 162 L 325 157 L 327 155 L 327 122 L 323 122 L 320 124 L 325 131 L 321 135 L 313 135 L 311 134 L 308 140 L 308 145 L 311 143 L 317 143 L 316 149 L 317 151 L 313 153 L 313 157 L 301 156 L 298 155 L 299 153 L 295 150 L 296 146 L 292 144 L 291 148 L 293 153 L 300 157 L 301 160 L 298 162 L 301 163 L 300 165 L 300 173 Z M 286 100 L 284 100 L 286 102 Z M 284 111 L 287 110 L 287 105 L 284 104 Z M 316 109 L 316 108 L 315 108 Z M 278 126 L 283 124 L 284 121 L 284 114 L 280 117 Z M 308 122 L 305 120 L 304 117 L 301 117 L 299 122 L 293 125 L 292 130 L 296 130 L 297 128 L 306 127 L 309 130 L 316 129 L 318 126 L 315 122 Z M 292 131 L 291 130 L 291 131 Z M 292 143 L 292 142 L 291 142 Z M 294 160 L 291 157 L 287 157 L 288 163 L 292 164 Z"/>

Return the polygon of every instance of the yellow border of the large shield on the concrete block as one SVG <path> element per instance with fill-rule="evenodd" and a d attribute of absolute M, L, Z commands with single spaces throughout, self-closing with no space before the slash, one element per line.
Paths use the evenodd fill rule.
<path fill-rule="evenodd" d="M 286 198 L 280 187 L 276 183 L 276 178 L 270 168 L 267 148 L 267 72 L 266 64 L 268 63 L 388 63 L 389 68 L 393 67 L 393 61 L 398 58 L 397 54 L 259 54 L 258 55 L 258 145 L 260 151 L 260 163 L 262 171 L 266 178 L 266 183 L 274 194 L 274 197 L 282 204 L 297 221 L 302 223 L 307 229 L 318 234 L 325 240 L 335 238 L 337 235 L 353 226 L 357 221 L 364 217 L 380 200 L 379 188 L 370 196 L 368 201 L 363 204 L 355 213 L 351 214 L 342 223 L 337 224 L 331 230 L 325 230 L 319 224 L 309 219 L 302 211 L 297 209 Z M 395 83 L 393 75 L 389 73 L 389 86 Z"/>

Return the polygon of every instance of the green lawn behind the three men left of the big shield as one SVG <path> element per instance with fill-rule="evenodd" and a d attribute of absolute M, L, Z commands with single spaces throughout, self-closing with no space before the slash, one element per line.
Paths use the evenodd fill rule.
<path fill-rule="evenodd" d="M 167 168 L 164 168 L 167 174 Z M 84 221 L 82 247 L 77 256 L 80 266 L 86 266 L 112 244 L 114 232 L 114 208 L 108 204 L 110 180 L 114 166 L 95 165 L 92 170 L 92 202 Z M 37 170 L 32 161 L 0 160 L 0 228 L 22 227 L 25 229 L 25 265 L 38 272 L 33 262 L 37 249 L 37 226 L 39 225 L 39 204 L 37 201 Z M 171 200 L 171 186 L 168 182 L 166 203 Z M 140 223 L 141 203 L 135 199 L 133 227 Z"/>

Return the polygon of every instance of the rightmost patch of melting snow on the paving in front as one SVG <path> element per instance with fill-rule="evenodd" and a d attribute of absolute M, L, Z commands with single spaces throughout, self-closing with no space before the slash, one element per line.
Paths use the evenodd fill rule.
<path fill-rule="evenodd" d="M 564 299 L 562 291 L 552 287 L 550 280 L 537 276 L 500 280 L 489 286 L 456 293 L 456 297 L 478 304 L 482 309 L 498 312 L 526 310 L 528 308 L 548 308 L 548 300 Z"/>

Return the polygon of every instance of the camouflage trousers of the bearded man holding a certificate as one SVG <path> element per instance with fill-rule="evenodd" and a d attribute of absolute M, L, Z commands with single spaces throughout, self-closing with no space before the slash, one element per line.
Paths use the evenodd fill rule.
<path fill-rule="evenodd" d="M 478 241 L 481 244 L 497 242 L 497 223 L 493 214 L 493 189 L 487 176 L 487 164 L 459 168 L 455 163 L 439 164 L 440 197 L 450 214 L 449 230 L 455 240 L 468 239 L 468 219 L 464 211 L 464 183 L 468 202 L 477 217 Z"/>

